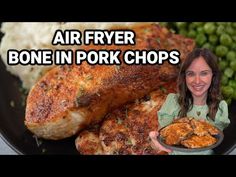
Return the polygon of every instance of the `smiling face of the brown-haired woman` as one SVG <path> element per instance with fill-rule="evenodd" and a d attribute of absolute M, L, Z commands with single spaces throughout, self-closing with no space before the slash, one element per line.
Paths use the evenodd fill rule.
<path fill-rule="evenodd" d="M 186 70 L 186 84 L 194 98 L 205 97 L 211 85 L 212 70 L 202 57 L 196 58 Z"/>

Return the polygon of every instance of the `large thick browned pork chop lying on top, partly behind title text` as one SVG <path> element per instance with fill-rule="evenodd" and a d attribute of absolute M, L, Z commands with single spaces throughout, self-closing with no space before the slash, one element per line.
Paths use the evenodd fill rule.
<path fill-rule="evenodd" d="M 194 42 L 158 25 L 142 25 L 135 46 L 87 46 L 85 50 L 177 49 L 181 59 Z M 58 140 L 77 134 L 100 122 L 119 106 L 141 98 L 167 81 L 176 79 L 178 67 L 163 65 L 58 66 L 49 71 L 30 91 L 25 125 L 38 137 Z"/>

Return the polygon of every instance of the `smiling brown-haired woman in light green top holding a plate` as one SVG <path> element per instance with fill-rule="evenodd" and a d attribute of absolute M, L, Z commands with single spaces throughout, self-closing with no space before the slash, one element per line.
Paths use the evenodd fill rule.
<path fill-rule="evenodd" d="M 228 105 L 221 100 L 217 58 L 208 49 L 196 48 L 187 56 L 180 69 L 178 91 L 178 94 L 169 94 L 158 111 L 159 128 L 185 116 L 204 119 L 221 130 L 229 125 Z M 149 134 L 157 150 L 169 154 L 190 154 L 166 149 L 157 141 L 158 135 L 157 131 Z M 206 150 L 194 154 L 212 153 L 212 150 Z"/>

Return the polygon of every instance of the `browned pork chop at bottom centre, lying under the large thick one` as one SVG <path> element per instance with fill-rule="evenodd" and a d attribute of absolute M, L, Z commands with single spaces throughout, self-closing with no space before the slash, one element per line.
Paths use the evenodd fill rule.
<path fill-rule="evenodd" d="M 167 83 L 144 98 L 109 113 L 99 130 L 99 144 L 102 144 L 103 154 L 161 154 L 151 147 L 148 135 L 150 131 L 158 129 L 157 111 L 164 103 L 166 95 L 176 92 L 175 89 L 174 82 Z M 76 147 L 81 154 L 94 153 L 85 152 L 90 143 L 83 142 L 93 140 L 85 137 L 84 132 L 88 133 L 88 130 L 79 135 Z M 90 133 L 93 134 L 93 131 Z"/>

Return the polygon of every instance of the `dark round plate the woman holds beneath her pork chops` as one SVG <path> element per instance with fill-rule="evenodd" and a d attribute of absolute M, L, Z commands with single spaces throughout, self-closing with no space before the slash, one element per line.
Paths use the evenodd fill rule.
<path fill-rule="evenodd" d="M 164 127 L 165 128 L 165 127 Z M 161 131 L 161 130 L 160 130 Z M 223 139 L 224 139 L 224 133 L 222 131 L 219 130 L 219 134 L 218 135 L 214 135 L 213 137 L 215 137 L 217 139 L 216 143 L 214 143 L 211 146 L 207 146 L 207 147 L 203 147 L 203 148 L 187 148 L 183 145 L 176 145 L 176 146 L 171 146 L 165 143 L 165 139 L 162 138 L 161 136 L 158 136 L 158 141 L 160 142 L 160 144 L 164 147 L 166 147 L 167 149 L 171 149 L 173 151 L 181 151 L 181 152 L 201 152 L 201 151 L 206 151 L 209 149 L 214 149 L 217 146 L 219 146 Z"/>

